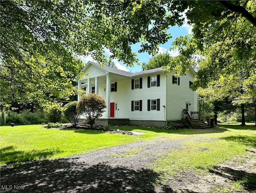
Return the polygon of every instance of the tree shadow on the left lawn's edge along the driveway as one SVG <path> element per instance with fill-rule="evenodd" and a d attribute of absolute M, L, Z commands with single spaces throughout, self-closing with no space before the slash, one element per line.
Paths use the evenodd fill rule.
<path fill-rule="evenodd" d="M 32 150 L 30 152 L 17 151 L 14 146 L 0 149 L 2 163 L 14 163 L 16 161 L 28 161 L 34 159 L 44 159 L 53 154 L 60 153 L 59 150 Z"/>

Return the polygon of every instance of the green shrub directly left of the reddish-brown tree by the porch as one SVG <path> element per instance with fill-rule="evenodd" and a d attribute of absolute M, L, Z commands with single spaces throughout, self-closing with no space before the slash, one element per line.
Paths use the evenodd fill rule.
<path fill-rule="evenodd" d="M 76 126 L 80 117 L 80 113 L 78 113 L 76 109 L 77 101 L 69 102 L 64 106 L 63 113 L 68 119 L 68 121 L 72 124 L 72 126 Z"/>

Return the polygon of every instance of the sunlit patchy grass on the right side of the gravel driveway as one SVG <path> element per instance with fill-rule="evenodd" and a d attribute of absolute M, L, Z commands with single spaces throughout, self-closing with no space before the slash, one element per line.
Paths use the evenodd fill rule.
<path fill-rule="evenodd" d="M 218 163 L 236 159 L 235 156 L 246 153 L 246 150 L 256 148 L 256 127 L 249 124 L 240 126 L 238 124 L 218 125 L 216 132 L 210 130 L 196 134 L 196 130 L 180 130 L 180 134 L 188 134 L 194 140 L 184 142 L 182 149 L 173 150 L 164 154 L 153 163 L 154 171 L 162 173 L 162 182 L 184 174 L 188 171 L 204 173 L 213 171 Z M 172 139 L 170 137 L 168 140 Z M 255 154 L 253 156 L 256 156 Z M 237 161 L 244 161 L 238 159 Z M 255 163 L 256 164 L 256 163 Z M 234 183 L 234 189 L 241 192 L 244 184 L 255 188 L 256 175 L 245 174 L 242 179 Z M 220 192 L 230 191 L 228 187 L 220 187 Z M 233 190 L 233 189 L 232 189 Z M 244 189 L 242 189 L 244 191 Z"/>

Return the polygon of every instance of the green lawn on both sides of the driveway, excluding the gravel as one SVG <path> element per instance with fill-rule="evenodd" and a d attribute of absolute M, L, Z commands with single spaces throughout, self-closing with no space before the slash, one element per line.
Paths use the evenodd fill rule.
<path fill-rule="evenodd" d="M 130 136 L 94 130 L 47 129 L 42 128 L 42 125 L 2 126 L 0 128 L 0 164 L 66 157 L 160 136 L 166 136 L 165 140 L 196 136 L 196 139 L 185 142 L 185 148 L 182 150 L 175 150 L 155 163 L 159 171 L 174 173 L 181 168 L 204 170 L 235 154 L 244 154 L 245 149 L 256 148 L 256 127 L 252 124 L 251 126 L 226 124 L 219 127 L 218 130 L 210 131 L 163 130 L 141 126 L 119 128 L 145 133 L 140 136 Z M 118 129 L 118 127 L 112 128 Z M 200 138 L 211 140 L 200 140 Z M 172 164 L 169 164 L 170 162 Z M 172 168 L 166 165 L 171 165 Z"/>

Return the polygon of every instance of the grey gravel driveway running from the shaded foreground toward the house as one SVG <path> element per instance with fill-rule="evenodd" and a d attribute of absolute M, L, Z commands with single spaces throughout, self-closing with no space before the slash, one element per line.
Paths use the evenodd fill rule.
<path fill-rule="evenodd" d="M 158 138 L 16 168 L 4 166 L 1 168 L 1 192 L 204 193 L 212 192 L 215 187 L 229 186 L 239 176 L 256 172 L 254 156 L 239 165 L 227 162 L 216 166 L 211 173 L 187 172 L 164 185 L 159 184 L 160 175 L 152 170 L 150 163 L 161 153 L 182 148 L 184 141 Z"/>

